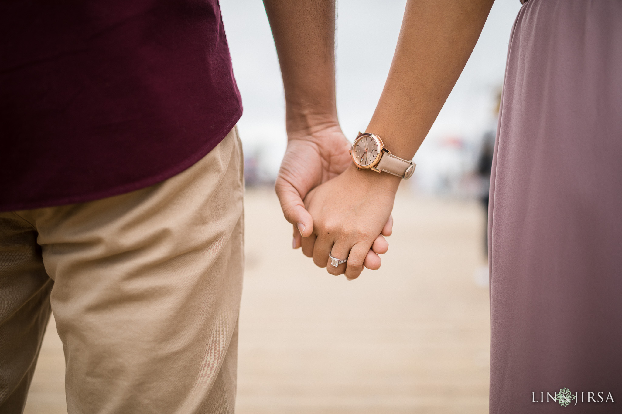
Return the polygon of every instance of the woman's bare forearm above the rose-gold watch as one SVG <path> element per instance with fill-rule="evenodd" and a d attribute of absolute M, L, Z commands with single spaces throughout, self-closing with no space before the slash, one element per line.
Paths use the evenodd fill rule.
<path fill-rule="evenodd" d="M 493 0 L 409 0 L 391 70 L 366 132 L 410 160 L 468 60 Z"/>

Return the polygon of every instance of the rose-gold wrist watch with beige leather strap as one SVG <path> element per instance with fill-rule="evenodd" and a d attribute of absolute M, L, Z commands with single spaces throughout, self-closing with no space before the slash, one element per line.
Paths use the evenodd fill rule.
<path fill-rule="evenodd" d="M 402 160 L 384 148 L 383 141 L 373 133 L 359 132 L 350 150 L 356 169 L 371 169 L 380 173 L 393 174 L 409 179 L 415 171 L 416 164 Z"/>

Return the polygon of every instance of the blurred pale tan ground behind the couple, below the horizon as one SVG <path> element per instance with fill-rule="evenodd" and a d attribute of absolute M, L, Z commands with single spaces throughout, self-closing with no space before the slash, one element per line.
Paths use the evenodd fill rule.
<path fill-rule="evenodd" d="M 487 413 L 488 289 L 473 200 L 397 194 L 379 271 L 331 276 L 292 250 L 272 189 L 246 194 L 239 414 Z M 174 379 L 171 379 L 174 380 Z M 27 414 L 66 413 L 53 320 Z"/>

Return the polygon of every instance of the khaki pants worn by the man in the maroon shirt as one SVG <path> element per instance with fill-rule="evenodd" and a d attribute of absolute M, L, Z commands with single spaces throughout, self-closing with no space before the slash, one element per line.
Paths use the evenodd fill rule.
<path fill-rule="evenodd" d="M 0 413 L 21 413 L 51 311 L 74 413 L 233 413 L 243 156 L 232 130 L 183 173 L 0 213 Z"/>

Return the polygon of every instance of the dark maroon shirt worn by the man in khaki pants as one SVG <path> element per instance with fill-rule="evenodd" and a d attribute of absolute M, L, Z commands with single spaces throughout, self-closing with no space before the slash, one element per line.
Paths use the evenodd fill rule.
<path fill-rule="evenodd" d="M 0 211 L 160 182 L 241 114 L 217 0 L 0 2 Z"/>

